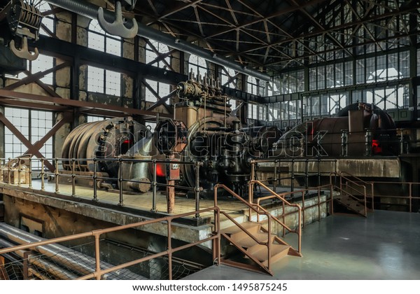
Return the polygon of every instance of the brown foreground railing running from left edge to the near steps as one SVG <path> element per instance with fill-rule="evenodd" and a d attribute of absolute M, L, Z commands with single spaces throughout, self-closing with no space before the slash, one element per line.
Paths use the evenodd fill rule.
<path fill-rule="evenodd" d="M 36 251 L 36 248 L 38 248 L 39 246 L 45 246 L 48 244 L 57 244 L 59 242 L 63 242 L 63 241 L 73 241 L 73 240 L 78 240 L 78 239 L 82 239 L 82 238 L 86 238 L 86 237 L 93 237 L 94 239 L 94 270 L 92 272 L 90 272 L 89 274 L 85 274 L 83 276 L 76 276 L 76 279 L 79 280 L 86 280 L 86 279 L 102 279 L 102 277 L 105 274 L 109 274 L 111 272 L 116 272 L 120 269 L 126 269 L 127 267 L 131 267 L 133 265 L 138 265 L 141 262 L 146 262 L 148 260 L 152 260 L 153 258 L 161 258 L 162 256 L 167 256 L 168 261 L 169 261 L 169 279 L 173 278 L 172 275 L 172 258 L 174 253 L 193 247 L 193 246 L 197 246 L 199 244 L 202 244 L 204 242 L 207 241 L 212 241 L 214 244 L 220 244 L 220 241 L 218 241 L 218 239 L 220 239 L 220 232 L 218 232 L 218 228 L 220 228 L 220 225 L 215 225 L 216 230 L 214 230 L 211 233 L 211 236 L 204 238 L 204 239 L 200 239 L 197 241 L 194 241 L 192 243 L 189 244 L 185 244 L 182 246 L 177 246 L 177 247 L 173 247 L 172 246 L 172 221 L 174 221 L 174 219 L 176 218 L 183 218 L 186 216 L 190 216 L 193 214 L 200 214 L 200 213 L 204 213 L 204 212 L 208 212 L 208 211 L 214 211 L 214 215 L 216 216 L 216 219 L 219 220 L 220 219 L 220 210 L 218 209 L 218 207 L 210 207 L 207 209 L 202 209 L 200 211 L 192 211 L 189 213 L 185 213 L 185 214 L 179 214 L 179 215 L 174 215 L 174 216 L 166 216 L 164 218 L 157 218 L 157 219 L 153 219 L 150 221 L 141 221 L 139 223 L 131 223 L 128 225 L 120 225 L 117 227 L 113 227 L 113 228 L 106 228 L 106 229 L 101 229 L 101 230 L 93 230 L 91 232 L 84 232 L 84 233 L 80 233 L 80 234 L 76 234 L 76 235 L 71 235 L 71 236 L 66 236 L 66 237 L 58 237 L 58 238 L 54 238 L 54 239 L 48 239 L 45 241 L 37 241 L 37 242 L 31 242 L 30 244 L 23 244 L 23 245 L 18 245 L 18 246 L 13 246 L 10 248 L 3 248 L 0 249 L 0 256 L 1 255 L 5 255 L 7 253 L 12 253 L 15 251 L 22 251 L 22 250 L 27 250 L 27 249 L 31 249 Z M 113 265 L 111 267 L 102 267 L 102 263 L 103 261 L 101 261 L 101 246 L 100 246 L 100 240 L 101 240 L 101 236 L 106 234 L 106 233 L 110 233 L 110 232 L 118 232 L 121 230 L 127 230 L 130 228 L 141 228 L 145 225 L 151 225 L 151 224 L 155 224 L 155 223 L 162 223 L 162 224 L 166 224 L 167 225 L 167 250 L 165 251 L 161 251 L 159 253 L 155 253 L 152 255 L 148 255 L 144 258 L 139 258 L 136 260 L 132 260 L 130 262 L 124 262 L 123 264 L 120 265 Z M 30 260 L 30 259 L 29 259 Z"/>

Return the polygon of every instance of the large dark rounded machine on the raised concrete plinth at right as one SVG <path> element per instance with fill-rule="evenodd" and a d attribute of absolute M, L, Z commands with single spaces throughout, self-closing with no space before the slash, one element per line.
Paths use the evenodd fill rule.
<path fill-rule="evenodd" d="M 395 123 L 377 106 L 356 103 L 333 118 L 301 123 L 276 142 L 280 158 L 346 158 L 398 155 L 400 138 Z"/>

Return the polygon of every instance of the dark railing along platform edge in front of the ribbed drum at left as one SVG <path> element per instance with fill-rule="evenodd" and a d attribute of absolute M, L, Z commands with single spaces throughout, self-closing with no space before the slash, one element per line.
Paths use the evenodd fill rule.
<path fill-rule="evenodd" d="M 27 160 L 27 165 L 24 165 L 23 160 Z M 45 161 L 53 162 L 55 170 L 53 172 L 48 171 L 45 167 Z M 15 164 L 13 163 L 15 162 Z M 87 167 L 87 163 L 93 163 L 93 171 L 90 172 L 90 175 L 83 172 L 78 172 L 76 169 L 83 169 Z M 118 177 L 106 176 L 105 173 L 97 171 L 97 165 L 104 162 L 116 162 L 118 167 Z M 147 164 L 151 170 L 151 179 L 152 181 L 137 181 L 134 179 L 124 179 L 123 178 L 123 169 L 122 166 L 125 162 L 130 163 L 144 163 Z M 183 162 L 179 160 L 138 160 L 138 159 L 128 159 L 128 158 L 0 158 L 1 163 L 1 178 L 3 183 L 15 184 L 17 186 L 22 186 L 23 180 L 28 180 L 28 188 L 34 189 L 32 178 L 34 174 L 38 174 L 39 179 L 41 180 L 41 191 L 45 191 L 45 179 L 54 179 L 54 192 L 60 193 L 60 185 L 65 185 L 59 182 L 59 178 L 68 178 L 71 179 L 71 196 L 77 197 L 76 194 L 76 181 L 79 180 L 88 180 L 92 181 L 92 190 L 93 190 L 93 199 L 95 202 L 99 201 L 98 197 L 98 188 L 110 188 L 109 184 L 106 184 L 106 181 L 118 183 L 118 205 L 124 206 L 124 190 L 123 183 L 137 183 L 137 184 L 146 184 L 151 185 L 152 191 L 152 204 L 151 211 L 157 211 L 157 190 L 158 187 L 165 188 L 180 188 L 182 190 L 190 190 L 195 193 L 195 211 L 200 210 L 200 167 L 202 162 Z M 34 170 L 34 166 L 38 163 L 38 170 Z M 68 169 L 59 169 L 60 164 L 63 167 Z M 158 165 L 194 165 L 195 167 L 195 186 L 179 186 L 172 185 L 169 183 L 160 183 L 158 182 L 157 169 Z M 6 181 L 5 181 L 6 179 Z M 26 183 L 26 182 L 25 182 Z M 111 186 L 111 188 L 113 188 Z M 197 214 L 197 218 L 200 217 L 200 214 Z"/>

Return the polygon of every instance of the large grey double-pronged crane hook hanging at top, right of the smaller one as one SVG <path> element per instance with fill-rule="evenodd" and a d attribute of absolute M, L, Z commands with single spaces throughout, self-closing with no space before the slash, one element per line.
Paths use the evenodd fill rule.
<path fill-rule="evenodd" d="M 137 30 L 139 26 L 137 25 L 137 21 L 133 18 L 133 26 L 131 29 L 125 27 L 123 23 L 123 11 L 121 9 L 121 2 L 116 1 L 116 18 L 111 22 L 107 22 L 104 18 L 104 8 L 99 7 L 98 10 L 98 22 L 101 25 L 102 29 L 106 31 L 108 34 L 120 36 L 122 38 L 134 38 L 137 35 Z"/>

